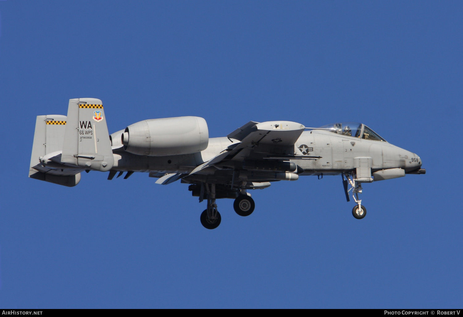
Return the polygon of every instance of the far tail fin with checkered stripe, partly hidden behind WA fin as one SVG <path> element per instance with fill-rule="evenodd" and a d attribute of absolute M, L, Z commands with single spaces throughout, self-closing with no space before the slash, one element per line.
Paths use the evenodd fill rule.
<path fill-rule="evenodd" d="M 75 186 L 79 183 L 81 168 L 57 168 L 40 162 L 44 156 L 60 155 L 65 129 L 66 116 L 37 116 L 29 177 L 64 186 Z"/>

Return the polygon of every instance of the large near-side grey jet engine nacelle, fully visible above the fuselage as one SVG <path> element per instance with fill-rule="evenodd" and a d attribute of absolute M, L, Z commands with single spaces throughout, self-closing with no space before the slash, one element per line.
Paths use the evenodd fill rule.
<path fill-rule="evenodd" d="M 199 117 L 150 119 L 125 128 L 121 142 L 125 151 L 137 155 L 192 154 L 207 148 L 209 131 Z"/>

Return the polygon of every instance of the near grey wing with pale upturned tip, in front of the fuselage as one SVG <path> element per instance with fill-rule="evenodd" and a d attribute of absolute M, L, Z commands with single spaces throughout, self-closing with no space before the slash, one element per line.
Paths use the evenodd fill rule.
<path fill-rule="evenodd" d="M 227 136 L 241 142 L 231 144 L 223 153 L 201 164 L 188 176 L 210 174 L 211 169 L 236 168 L 244 160 L 288 160 L 300 156 L 307 158 L 294 154 L 294 143 L 304 129 L 304 125 L 291 121 L 250 121 Z"/>

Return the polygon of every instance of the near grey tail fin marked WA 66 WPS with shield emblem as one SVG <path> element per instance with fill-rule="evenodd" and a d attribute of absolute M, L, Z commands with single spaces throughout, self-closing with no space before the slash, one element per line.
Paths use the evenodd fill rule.
<path fill-rule="evenodd" d="M 100 99 L 69 99 L 61 162 L 106 172 L 114 157 Z"/>

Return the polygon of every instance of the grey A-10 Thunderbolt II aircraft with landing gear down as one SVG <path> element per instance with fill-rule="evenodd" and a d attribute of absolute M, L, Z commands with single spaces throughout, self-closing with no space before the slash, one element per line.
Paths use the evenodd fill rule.
<path fill-rule="evenodd" d="M 425 174 L 418 155 L 400 149 L 364 124 L 336 123 L 306 128 L 290 121 L 250 121 L 226 137 L 209 138 L 199 117 L 150 119 L 109 135 L 100 99 L 70 99 L 68 115 L 38 116 L 29 177 L 75 186 L 82 171 L 146 172 L 156 184 L 176 180 L 200 202 L 207 201 L 201 224 L 217 228 L 216 199 L 235 199 L 240 216 L 254 211 L 250 189 L 300 176 L 341 175 L 344 193 L 356 203 L 352 214 L 366 215 L 358 194 L 362 184 Z M 350 185 L 350 189 L 348 189 Z"/>

